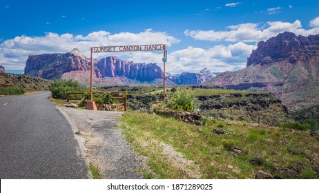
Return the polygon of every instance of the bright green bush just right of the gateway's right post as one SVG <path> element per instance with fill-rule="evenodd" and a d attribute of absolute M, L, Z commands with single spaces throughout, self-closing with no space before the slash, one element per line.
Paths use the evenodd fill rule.
<path fill-rule="evenodd" d="M 171 101 L 172 108 L 175 110 L 193 112 L 197 107 L 197 99 L 191 90 L 178 88 Z"/>

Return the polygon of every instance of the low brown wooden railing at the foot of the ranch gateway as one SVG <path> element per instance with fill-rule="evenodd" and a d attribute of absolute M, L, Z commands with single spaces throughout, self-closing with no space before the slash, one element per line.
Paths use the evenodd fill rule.
<path fill-rule="evenodd" d="M 85 93 L 86 92 L 66 92 L 66 101 L 68 102 L 70 100 L 81 100 L 81 99 L 83 99 Z M 104 94 L 106 92 L 93 92 L 93 94 L 96 94 L 96 93 Z M 123 100 L 124 103 L 122 103 L 122 105 L 124 105 L 124 111 L 127 110 L 127 92 L 126 91 L 110 91 L 108 93 L 112 94 L 112 96 L 118 101 Z M 75 95 L 75 94 L 82 95 L 82 97 L 81 98 L 72 98 L 71 96 Z"/>

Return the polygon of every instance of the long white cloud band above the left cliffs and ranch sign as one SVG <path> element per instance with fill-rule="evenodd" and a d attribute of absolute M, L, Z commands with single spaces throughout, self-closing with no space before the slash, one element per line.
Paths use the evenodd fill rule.
<path fill-rule="evenodd" d="M 0 43 L 0 65 L 10 70 L 22 70 L 26 65 L 29 55 L 45 53 L 70 52 L 78 48 L 86 57 L 90 56 L 90 47 L 102 45 L 139 45 L 139 44 L 166 44 L 170 47 L 173 43 L 180 42 L 166 32 L 154 32 L 151 29 L 144 32 L 92 32 L 86 36 L 73 34 L 46 33 L 43 37 L 28 37 L 22 35 Z M 104 57 L 110 53 L 102 53 Z M 102 54 L 95 54 L 99 57 Z M 147 52 L 144 52 L 147 56 Z M 162 58 L 160 58 L 162 60 Z M 154 62 L 154 61 L 153 61 Z"/>

